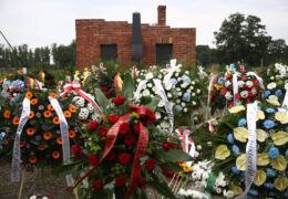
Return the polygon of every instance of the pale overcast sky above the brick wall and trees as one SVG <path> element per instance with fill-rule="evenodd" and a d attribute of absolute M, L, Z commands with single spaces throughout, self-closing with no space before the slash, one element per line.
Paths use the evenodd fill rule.
<path fill-rule="evenodd" d="M 196 28 L 197 45 L 212 46 L 213 32 L 235 12 L 259 17 L 272 39 L 288 43 L 288 0 L 0 0 L 0 30 L 12 45 L 69 44 L 75 39 L 75 19 L 131 22 L 137 11 L 142 23 L 153 24 L 158 4 L 167 6 L 166 24 Z"/>

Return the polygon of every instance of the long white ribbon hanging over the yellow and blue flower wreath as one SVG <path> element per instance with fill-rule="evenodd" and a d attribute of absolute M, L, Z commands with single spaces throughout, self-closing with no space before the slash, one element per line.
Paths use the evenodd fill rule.
<path fill-rule="evenodd" d="M 246 145 L 246 174 L 245 174 L 245 191 L 235 199 L 245 199 L 254 181 L 257 170 L 257 149 L 256 149 L 256 118 L 257 102 L 247 105 L 247 126 L 249 138 Z"/>

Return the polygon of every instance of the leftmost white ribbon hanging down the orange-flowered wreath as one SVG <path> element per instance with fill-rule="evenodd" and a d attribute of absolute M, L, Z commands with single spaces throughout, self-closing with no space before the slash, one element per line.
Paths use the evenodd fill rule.
<path fill-rule="evenodd" d="M 22 103 L 22 113 L 20 122 L 16 133 L 16 139 L 13 145 L 13 156 L 12 156 L 12 169 L 11 169 L 11 181 L 20 181 L 20 161 L 21 161 L 21 150 L 20 150 L 20 137 L 23 127 L 29 119 L 30 115 L 30 100 L 24 98 Z"/>

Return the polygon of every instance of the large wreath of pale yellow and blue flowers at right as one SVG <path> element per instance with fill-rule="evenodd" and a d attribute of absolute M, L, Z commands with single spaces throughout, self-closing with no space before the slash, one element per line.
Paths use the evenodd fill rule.
<path fill-rule="evenodd" d="M 277 101 L 270 100 L 258 106 L 257 171 L 248 190 L 250 197 L 288 197 L 288 116 L 287 111 L 279 106 Z M 213 171 L 222 171 L 234 195 L 240 195 L 245 188 L 246 145 L 249 137 L 246 107 L 235 106 L 229 109 L 229 114 L 219 117 L 215 124 L 215 133 L 202 130 L 194 139 L 198 138 L 197 142 L 204 143 L 205 157 L 210 157 L 214 163 Z M 210 137 L 209 144 L 205 142 L 207 136 Z"/>

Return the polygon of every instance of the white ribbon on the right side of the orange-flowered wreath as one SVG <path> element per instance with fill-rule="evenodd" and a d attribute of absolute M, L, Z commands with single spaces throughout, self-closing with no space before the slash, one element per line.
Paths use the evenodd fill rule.
<path fill-rule="evenodd" d="M 53 108 L 56 112 L 56 115 L 60 119 L 60 130 L 61 130 L 61 138 L 62 138 L 62 151 L 63 151 L 63 161 L 64 165 L 70 164 L 70 140 L 69 140 L 69 135 L 68 135 L 68 123 L 65 119 L 65 116 L 62 112 L 62 108 L 58 102 L 56 98 L 53 98 L 49 96 L 49 101 Z M 71 175 L 66 175 L 66 184 L 69 187 L 73 185 L 73 178 Z"/>

